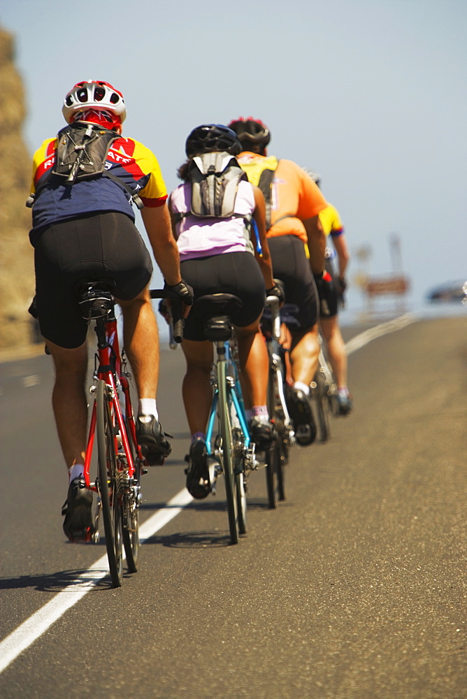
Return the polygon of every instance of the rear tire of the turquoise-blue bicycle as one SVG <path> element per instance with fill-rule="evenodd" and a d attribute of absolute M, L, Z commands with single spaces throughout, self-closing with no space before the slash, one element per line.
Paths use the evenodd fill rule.
<path fill-rule="evenodd" d="M 222 442 L 222 468 L 224 471 L 227 513 L 229 515 L 230 540 L 231 544 L 238 544 L 237 500 L 235 493 L 236 481 L 234 478 L 234 463 L 232 457 L 234 444 L 232 440 L 229 399 L 227 395 L 226 364 L 224 361 L 220 361 L 217 364 L 217 384 L 219 388 L 217 412 L 219 415 L 219 431 Z"/>

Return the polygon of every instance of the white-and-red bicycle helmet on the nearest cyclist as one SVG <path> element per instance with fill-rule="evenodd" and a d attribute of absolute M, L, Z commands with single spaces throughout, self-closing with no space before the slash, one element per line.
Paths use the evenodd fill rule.
<path fill-rule="evenodd" d="M 127 116 L 123 95 L 110 82 L 101 80 L 83 80 L 66 94 L 62 113 L 66 122 L 71 124 L 78 112 L 89 109 L 105 110 L 124 122 Z"/>

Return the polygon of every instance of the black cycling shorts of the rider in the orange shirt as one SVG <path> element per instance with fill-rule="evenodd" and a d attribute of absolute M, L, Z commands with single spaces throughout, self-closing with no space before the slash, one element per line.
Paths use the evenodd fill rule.
<path fill-rule="evenodd" d="M 285 287 L 284 320 L 291 331 L 309 331 L 317 322 L 318 305 L 303 241 L 298 236 L 275 236 L 268 238 L 268 246 L 274 278 Z"/>

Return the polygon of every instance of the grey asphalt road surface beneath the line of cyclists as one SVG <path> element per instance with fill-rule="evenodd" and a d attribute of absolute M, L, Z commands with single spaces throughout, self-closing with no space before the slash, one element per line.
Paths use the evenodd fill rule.
<path fill-rule="evenodd" d="M 253 473 L 232 547 L 221 486 L 150 535 L 118 590 L 102 563 L 93 582 L 105 546 L 64 539 L 50 358 L 1 364 L 0 663 L 44 605 L 64 612 L 20 627 L 37 637 L 0 697 L 467 698 L 466 340 L 454 318 L 354 343 L 354 412 L 328 443 L 294 449 L 287 501 L 268 510 Z M 145 476 L 143 521 L 178 512 L 182 363 L 162 352 L 173 454 Z"/>

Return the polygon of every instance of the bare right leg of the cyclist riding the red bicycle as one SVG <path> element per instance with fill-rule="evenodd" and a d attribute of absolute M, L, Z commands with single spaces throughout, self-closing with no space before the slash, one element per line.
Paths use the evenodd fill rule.
<path fill-rule="evenodd" d="M 148 288 L 132 301 L 118 301 L 123 312 L 124 347 L 138 398 L 155 398 L 159 380 L 159 331 Z"/>

